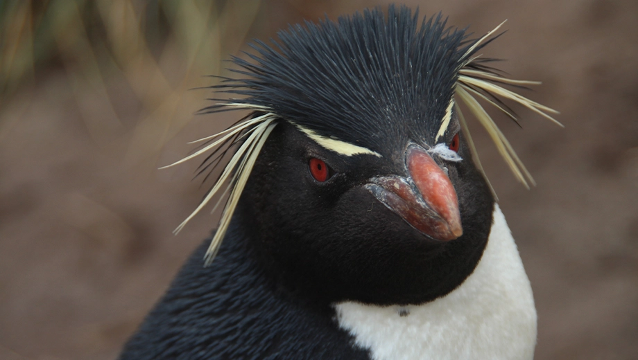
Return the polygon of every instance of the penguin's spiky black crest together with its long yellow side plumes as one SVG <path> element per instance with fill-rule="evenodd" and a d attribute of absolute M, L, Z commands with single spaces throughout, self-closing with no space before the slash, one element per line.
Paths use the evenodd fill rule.
<path fill-rule="evenodd" d="M 212 197 L 230 193 L 207 253 L 207 262 L 212 261 L 261 147 L 281 122 L 295 125 L 313 141 L 344 156 L 391 157 L 405 150 L 406 141 L 434 147 L 454 135 L 449 134 L 451 129 L 460 128 L 482 172 L 455 98 L 463 100 L 485 127 L 517 179 L 533 183 L 476 101 L 481 98 L 514 118 L 501 101 L 507 99 L 553 120 L 546 114 L 555 112 L 552 109 L 503 87 L 537 82 L 504 78 L 485 66 L 489 59 L 476 55 L 501 25 L 479 39 L 468 39 L 464 30 L 448 28 L 441 15 L 420 21 L 417 12 L 389 6 L 387 17 L 379 9 L 365 10 L 336 22 L 325 19 L 291 26 L 278 34 L 273 46 L 256 41 L 252 47 L 257 53 L 248 54 L 250 60 L 234 58 L 240 67 L 234 72 L 241 78 L 225 78 L 212 87 L 241 98 L 218 100 L 202 109 L 202 113 L 248 109 L 252 114 L 200 139 L 207 143 L 177 162 L 209 150 L 225 154 L 236 149 L 212 190 L 176 231 Z M 212 155 L 207 159 L 211 158 L 221 161 Z"/>

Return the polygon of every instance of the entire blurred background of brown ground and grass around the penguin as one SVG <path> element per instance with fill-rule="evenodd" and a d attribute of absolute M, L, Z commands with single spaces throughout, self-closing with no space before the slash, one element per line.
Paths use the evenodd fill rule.
<path fill-rule="evenodd" d="M 534 289 L 536 359 L 638 359 L 638 2 L 405 1 L 476 35 L 565 129 L 496 116 L 481 159 Z M 303 19 L 386 1 L 0 1 L 0 359 L 114 359 L 189 253 L 198 161 L 157 170 L 241 114 L 196 116 L 207 75 Z M 492 114 L 495 114 L 492 112 Z"/>

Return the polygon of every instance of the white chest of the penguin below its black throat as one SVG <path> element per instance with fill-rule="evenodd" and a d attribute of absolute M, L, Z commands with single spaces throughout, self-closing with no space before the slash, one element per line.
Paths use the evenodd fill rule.
<path fill-rule="evenodd" d="M 533 359 L 532 289 L 498 205 L 493 215 L 483 258 L 457 289 L 404 308 L 338 303 L 340 327 L 377 360 Z"/>

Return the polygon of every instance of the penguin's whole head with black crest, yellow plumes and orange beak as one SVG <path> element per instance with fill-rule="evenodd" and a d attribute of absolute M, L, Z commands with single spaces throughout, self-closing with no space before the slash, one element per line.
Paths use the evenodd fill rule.
<path fill-rule="evenodd" d="M 390 6 L 387 16 L 366 10 L 291 26 L 273 46 L 255 42 L 250 59 L 234 58 L 238 77 L 214 86 L 239 98 L 202 111 L 252 113 L 184 159 L 234 149 L 180 228 L 225 188 L 207 262 L 239 204 L 236 221 L 290 287 L 379 305 L 445 296 L 480 260 L 494 208 L 456 100 L 524 183 L 528 173 L 476 97 L 512 118 L 499 97 L 552 111 L 501 86 L 531 82 L 504 78 L 476 55 L 497 29 L 469 39 L 440 15 L 419 21 Z"/>

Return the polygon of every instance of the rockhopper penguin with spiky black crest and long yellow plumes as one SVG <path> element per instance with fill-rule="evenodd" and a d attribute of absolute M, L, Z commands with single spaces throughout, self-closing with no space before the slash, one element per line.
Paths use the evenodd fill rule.
<path fill-rule="evenodd" d="M 196 210 L 220 196 L 223 217 L 121 359 L 532 359 L 530 282 L 458 102 L 524 183 L 476 99 L 554 111 L 481 57 L 497 33 L 390 6 L 234 58 L 204 112 L 250 115 L 184 159 L 230 157 Z"/>

